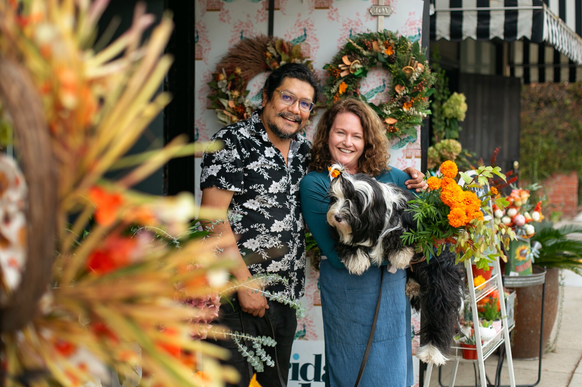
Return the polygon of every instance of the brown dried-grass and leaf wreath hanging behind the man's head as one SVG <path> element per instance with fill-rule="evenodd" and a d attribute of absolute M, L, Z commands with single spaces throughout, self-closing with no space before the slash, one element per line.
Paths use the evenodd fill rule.
<path fill-rule="evenodd" d="M 225 125 L 247 119 L 258 107 L 247 98 L 249 81 L 289 62 L 306 64 L 313 71 L 311 60 L 304 58 L 299 44 L 265 35 L 244 38 L 223 56 L 212 73 L 209 109 L 214 109 Z"/>

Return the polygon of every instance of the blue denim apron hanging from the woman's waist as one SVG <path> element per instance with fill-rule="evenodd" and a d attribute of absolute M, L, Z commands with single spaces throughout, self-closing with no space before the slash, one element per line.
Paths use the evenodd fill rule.
<path fill-rule="evenodd" d="M 324 320 L 326 386 L 352 387 L 356 382 L 374 311 L 382 268 L 362 275 L 320 264 Z M 404 294 L 406 271 L 384 273 L 382 300 L 370 356 L 360 387 L 406 387 L 413 384 L 410 301 Z"/>

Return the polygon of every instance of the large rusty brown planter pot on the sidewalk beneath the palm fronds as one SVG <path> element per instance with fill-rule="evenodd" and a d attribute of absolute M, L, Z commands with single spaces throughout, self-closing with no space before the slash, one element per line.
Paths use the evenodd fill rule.
<path fill-rule="evenodd" d="M 544 308 L 544 349 L 558 313 L 559 269 L 546 271 L 546 297 Z M 540 359 L 540 323 L 542 285 L 516 288 L 515 328 L 512 355 L 514 359 Z"/>

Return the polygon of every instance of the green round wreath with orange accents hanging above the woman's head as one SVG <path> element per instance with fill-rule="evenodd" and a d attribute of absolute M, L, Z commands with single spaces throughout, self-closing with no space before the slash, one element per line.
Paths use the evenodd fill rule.
<path fill-rule="evenodd" d="M 361 94 L 360 82 L 378 62 L 390 72 L 392 88 L 387 92 L 388 102 L 375 105 Z M 327 106 L 346 96 L 368 102 L 384 120 L 389 137 L 416 138 L 416 127 L 431 113 L 428 97 L 434 92 L 434 76 L 425 50 L 397 33 L 384 30 L 354 35 L 324 69 L 329 73 L 323 88 Z"/>

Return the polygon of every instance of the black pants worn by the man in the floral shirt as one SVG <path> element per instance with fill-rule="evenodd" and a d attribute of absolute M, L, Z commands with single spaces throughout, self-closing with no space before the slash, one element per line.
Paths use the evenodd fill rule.
<path fill-rule="evenodd" d="M 263 345 L 262 348 L 269 356 L 271 356 L 273 361 L 275 361 L 276 349 L 276 359 L 279 362 L 279 370 L 281 370 L 283 380 L 287 382 L 291 347 L 297 329 L 295 310 L 288 305 L 276 301 L 267 301 L 269 309 L 265 310 L 265 316 L 255 317 L 240 309 L 236 293 L 235 295 L 231 295 L 229 300 L 232 302 L 232 306 L 228 302 L 223 303 L 219 310 L 219 316 L 215 322 L 226 325 L 226 327 L 230 328 L 233 332 L 237 331 L 254 337 L 270 336 L 271 338 L 274 338 L 277 342 L 275 347 Z M 267 318 L 271 320 L 275 335 L 273 335 L 273 332 L 271 331 L 271 325 L 269 325 Z M 212 340 L 211 342 L 230 349 L 232 357 L 223 363 L 229 364 L 239 371 L 241 378 L 237 386 L 249 386 L 250 379 L 256 371 L 247 361 L 247 358 L 240 354 L 235 342 L 230 339 L 219 341 Z M 244 342 L 243 345 L 246 345 L 248 350 L 253 350 L 253 352 L 255 352 L 252 342 L 247 341 Z M 264 371 L 256 373 L 257 381 L 263 387 L 281 387 L 276 366 L 269 367 L 267 364 L 264 364 Z"/>

